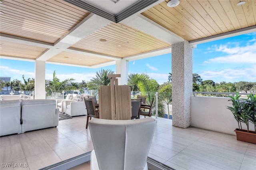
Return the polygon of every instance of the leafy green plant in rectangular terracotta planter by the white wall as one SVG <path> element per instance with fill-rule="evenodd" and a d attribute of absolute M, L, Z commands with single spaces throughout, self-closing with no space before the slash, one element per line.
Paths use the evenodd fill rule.
<path fill-rule="evenodd" d="M 232 101 L 232 106 L 227 106 L 238 123 L 236 139 L 244 142 L 256 144 L 256 95 L 250 94 L 247 99 L 240 99 L 241 95 L 230 96 L 228 101 Z M 254 125 L 254 131 L 249 130 L 249 122 Z M 247 130 L 242 129 L 242 123 Z"/>

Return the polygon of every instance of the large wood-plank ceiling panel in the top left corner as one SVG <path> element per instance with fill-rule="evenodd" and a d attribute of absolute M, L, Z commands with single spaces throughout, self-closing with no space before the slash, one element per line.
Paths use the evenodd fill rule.
<path fill-rule="evenodd" d="M 62 0 L 2 0 L 1 33 L 55 43 L 90 14 Z"/>

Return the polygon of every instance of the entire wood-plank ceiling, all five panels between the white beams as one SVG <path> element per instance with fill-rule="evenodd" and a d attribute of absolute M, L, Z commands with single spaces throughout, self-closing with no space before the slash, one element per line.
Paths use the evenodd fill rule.
<path fill-rule="evenodd" d="M 90 12 L 63 0 L 1 0 L 0 33 L 54 45 L 72 28 L 84 20 Z M 169 0 L 142 12 L 146 18 L 170 30 L 185 40 L 201 38 L 239 30 L 256 25 L 256 0 L 180 0 L 175 8 L 167 6 Z M 100 41 L 105 39 L 105 42 Z M 22 45 L 1 41 L 0 55 L 36 59 L 44 51 L 43 46 Z M 61 51 L 48 59 L 51 62 L 92 66 L 112 61 L 106 57 L 92 57 L 88 53 L 113 57 L 128 57 L 154 51 L 171 44 L 136 30 L 125 24 L 110 22 L 86 38 L 71 45 L 71 49 L 86 54 Z"/>

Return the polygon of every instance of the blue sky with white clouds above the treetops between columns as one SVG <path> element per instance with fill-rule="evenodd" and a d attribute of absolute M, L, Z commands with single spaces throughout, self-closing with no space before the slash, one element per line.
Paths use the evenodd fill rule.
<path fill-rule="evenodd" d="M 168 73 L 172 71 L 171 61 L 171 54 L 130 61 L 129 73 L 147 73 L 162 84 L 168 81 Z M 116 70 L 115 65 L 102 68 Z M 11 80 L 22 80 L 22 75 L 26 79 L 34 78 L 34 69 L 34 62 L 0 59 L 0 76 Z M 52 79 L 55 70 L 60 80 L 90 81 L 100 69 L 46 64 L 46 79 Z M 193 50 L 193 73 L 216 83 L 256 82 L 256 32 L 198 44 Z"/>

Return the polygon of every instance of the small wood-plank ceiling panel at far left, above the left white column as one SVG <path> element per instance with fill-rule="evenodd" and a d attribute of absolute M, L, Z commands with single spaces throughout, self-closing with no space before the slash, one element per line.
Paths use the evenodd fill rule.
<path fill-rule="evenodd" d="M 1 55 L 24 59 L 36 59 L 46 50 L 46 48 L 42 47 L 35 47 L 32 45 L 24 45 L 6 41 L 1 41 L 0 47 Z"/>

